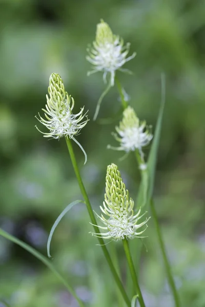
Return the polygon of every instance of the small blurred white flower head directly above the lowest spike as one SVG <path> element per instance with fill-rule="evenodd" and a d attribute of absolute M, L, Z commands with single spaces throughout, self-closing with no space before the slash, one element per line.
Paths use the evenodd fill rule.
<path fill-rule="evenodd" d="M 149 128 L 146 126 L 146 121 L 139 122 L 134 109 L 128 106 L 123 112 L 122 121 L 115 129 L 119 136 L 116 133 L 113 133 L 113 136 L 120 142 L 120 146 L 112 147 L 108 145 L 108 148 L 126 152 L 138 149 L 141 158 L 143 158 L 142 147 L 148 145 L 153 138 Z"/>

